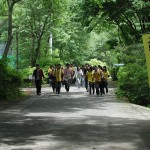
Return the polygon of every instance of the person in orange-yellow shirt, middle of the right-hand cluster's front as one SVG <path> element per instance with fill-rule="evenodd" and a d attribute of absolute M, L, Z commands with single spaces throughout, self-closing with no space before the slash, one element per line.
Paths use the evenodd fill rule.
<path fill-rule="evenodd" d="M 95 67 L 95 71 L 93 73 L 93 78 L 95 80 L 95 88 L 96 88 L 96 94 L 99 95 L 103 93 L 102 88 L 100 88 L 100 83 L 102 79 L 102 70 Z"/>

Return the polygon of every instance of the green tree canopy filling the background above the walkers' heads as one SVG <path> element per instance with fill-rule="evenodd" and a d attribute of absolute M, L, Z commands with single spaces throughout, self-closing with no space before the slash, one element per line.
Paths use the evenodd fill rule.
<path fill-rule="evenodd" d="M 17 69 L 94 58 L 113 65 L 116 46 L 139 43 L 149 32 L 149 5 L 146 0 L 2 0 L 2 57 L 13 50 Z"/>

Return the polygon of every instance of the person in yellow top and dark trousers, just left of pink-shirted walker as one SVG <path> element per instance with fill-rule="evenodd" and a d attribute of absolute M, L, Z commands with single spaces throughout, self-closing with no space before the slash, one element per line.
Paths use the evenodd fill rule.
<path fill-rule="evenodd" d="M 55 76 L 55 83 L 56 83 L 56 93 L 60 94 L 61 82 L 62 82 L 62 69 L 60 64 L 57 65 L 57 68 L 54 71 L 54 76 Z"/>

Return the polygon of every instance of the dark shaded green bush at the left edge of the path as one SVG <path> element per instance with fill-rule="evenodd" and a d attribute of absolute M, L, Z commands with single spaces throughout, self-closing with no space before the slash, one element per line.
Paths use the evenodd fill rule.
<path fill-rule="evenodd" d="M 19 73 L 0 61 L 0 99 L 14 99 L 21 95 L 22 78 Z"/>

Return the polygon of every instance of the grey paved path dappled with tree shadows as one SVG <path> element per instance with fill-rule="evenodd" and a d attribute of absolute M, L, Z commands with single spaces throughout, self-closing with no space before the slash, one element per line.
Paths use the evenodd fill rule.
<path fill-rule="evenodd" d="M 31 90 L 31 89 L 29 89 Z M 84 88 L 33 95 L 0 111 L 0 150 L 150 150 L 150 110 Z"/>

